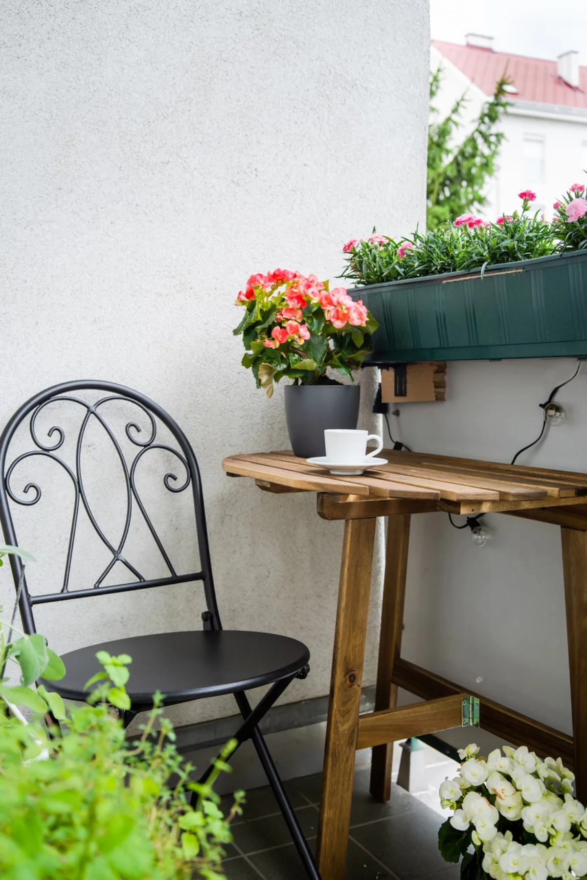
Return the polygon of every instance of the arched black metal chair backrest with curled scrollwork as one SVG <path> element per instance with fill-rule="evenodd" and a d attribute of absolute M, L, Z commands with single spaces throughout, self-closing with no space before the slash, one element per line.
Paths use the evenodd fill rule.
<path fill-rule="evenodd" d="M 55 415 L 61 422 L 61 427 L 53 422 Z M 46 426 L 44 431 L 40 428 L 40 422 Z M 66 424 L 65 428 L 63 424 Z M 48 428 L 48 425 L 52 427 Z M 91 493 L 84 486 L 82 469 L 84 458 L 87 458 L 87 447 L 92 448 L 94 456 L 96 454 L 95 441 L 88 440 L 92 429 L 99 430 L 101 446 L 107 447 L 111 456 L 114 451 L 115 460 L 120 463 L 120 466 L 117 464 L 116 470 L 122 474 L 121 496 L 126 497 L 126 511 L 121 513 L 121 535 L 118 540 L 113 540 L 112 536 L 107 535 L 107 532 L 112 531 L 111 524 L 104 520 L 102 524 L 99 523 L 99 514 L 92 509 L 93 505 L 89 497 Z M 165 433 L 163 438 L 165 442 L 160 442 L 161 431 Z M 168 441 L 168 437 L 171 437 L 171 440 Z M 16 456 L 11 458 L 11 448 L 14 445 L 18 446 L 18 450 Z M 152 510 L 150 516 L 137 488 L 138 473 L 145 472 L 144 463 L 147 458 L 153 458 L 149 453 L 155 450 L 159 451 L 160 457 L 167 461 L 172 458 L 180 467 L 178 472 L 180 476 L 171 471 L 165 473 L 160 488 L 165 486 L 170 493 L 181 493 L 191 486 L 194 501 L 194 530 L 191 535 L 182 533 L 181 539 L 196 541 L 200 558 L 198 571 L 185 573 L 175 571 L 170 555 L 165 550 L 153 523 Z M 35 632 L 34 605 L 195 581 L 203 583 L 208 610 L 206 626 L 221 628 L 209 559 L 208 533 L 198 464 L 187 436 L 164 409 L 143 394 L 123 385 L 92 380 L 54 385 L 36 394 L 31 400 L 27 400 L 11 417 L 0 436 L 0 524 L 6 544 L 18 545 L 12 517 L 17 506 L 19 510 L 32 508 L 40 501 L 39 484 L 26 481 L 26 464 L 32 466 L 32 459 L 38 458 L 50 462 L 51 466 L 55 467 L 55 472 L 59 471 L 57 466 L 61 466 L 60 473 L 69 476 L 73 493 L 70 496 L 70 536 L 62 579 L 60 576 L 60 589 L 32 595 L 27 587 L 26 576 L 23 576 L 21 561 L 18 556 L 10 557 L 12 577 L 17 590 L 18 584 L 21 584 L 19 607 L 23 627 L 27 633 Z M 146 468 L 148 471 L 150 469 L 150 466 Z M 178 470 L 178 467 L 174 467 L 174 470 Z M 93 480 L 96 479 L 96 473 L 94 466 Z M 50 511 L 44 512 L 50 527 Z M 87 583 L 93 582 L 92 586 L 88 589 L 71 590 L 70 574 L 80 515 L 84 517 L 86 525 L 88 522 L 92 525 L 102 547 L 101 552 L 106 553 L 107 561 L 103 568 L 100 563 L 100 570 L 97 570 L 95 577 L 88 576 Z M 125 555 L 125 545 L 128 543 L 133 516 L 142 520 L 143 532 L 145 527 L 148 530 L 144 533 L 147 537 L 150 535 L 149 540 L 152 541 L 154 553 L 164 576 L 146 576 L 143 574 L 141 564 L 138 561 L 130 561 L 127 558 L 128 553 Z M 33 550 L 33 547 L 26 549 Z M 114 566 L 117 568 L 114 569 Z M 121 567 L 125 572 L 125 576 L 121 578 L 122 583 L 105 583 L 112 580 L 114 570 L 118 572 Z"/>

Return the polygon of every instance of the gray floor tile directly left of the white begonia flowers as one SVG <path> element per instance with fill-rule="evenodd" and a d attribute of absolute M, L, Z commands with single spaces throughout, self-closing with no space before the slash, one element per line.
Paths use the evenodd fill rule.
<path fill-rule="evenodd" d="M 351 832 L 380 862 L 401 880 L 422 880 L 446 868 L 438 852 L 442 817 L 421 806 L 401 816 L 362 825 Z"/>

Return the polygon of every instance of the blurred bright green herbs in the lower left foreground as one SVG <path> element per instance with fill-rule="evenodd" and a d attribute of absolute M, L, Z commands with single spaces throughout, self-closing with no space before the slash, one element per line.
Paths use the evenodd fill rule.
<path fill-rule="evenodd" d="M 57 694 L 30 687 L 36 678 L 64 673 L 42 636 L 8 643 L 0 625 L 0 663 L 5 660 L 18 664 L 21 684 L 10 687 L 4 679 L 0 690 L 3 880 L 224 880 L 223 847 L 244 793 L 235 794 L 224 818 L 213 786 L 230 769 L 236 742 L 226 745 L 205 784 L 191 782 L 194 768 L 175 748 L 161 694 L 132 744 L 113 715 L 113 692 L 128 700 L 130 657 L 99 652 L 104 671 L 88 683 L 88 702 L 67 717 Z M 40 720 L 24 724 L 6 701 L 39 714 L 51 709 L 63 719 L 63 735 L 48 737 Z M 124 700 L 118 704 L 125 708 Z"/>

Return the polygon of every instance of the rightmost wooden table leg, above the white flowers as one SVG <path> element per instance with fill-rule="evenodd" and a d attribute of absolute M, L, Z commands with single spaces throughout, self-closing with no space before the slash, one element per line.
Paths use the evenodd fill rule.
<path fill-rule="evenodd" d="M 587 798 L 587 532 L 561 528 L 576 796 Z M 556 755 L 554 755 L 556 757 Z"/>

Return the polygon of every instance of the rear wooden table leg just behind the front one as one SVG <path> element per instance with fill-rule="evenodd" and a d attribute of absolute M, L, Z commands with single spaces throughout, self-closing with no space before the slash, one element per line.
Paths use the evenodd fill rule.
<path fill-rule="evenodd" d="M 397 685 L 393 684 L 393 664 L 400 656 L 401 630 L 404 619 L 406 593 L 407 546 L 410 517 L 388 517 L 385 545 L 385 581 L 381 606 L 381 633 L 375 710 L 395 708 Z M 371 795 L 378 801 L 388 801 L 392 789 L 393 743 L 376 745 L 371 759 Z"/>

